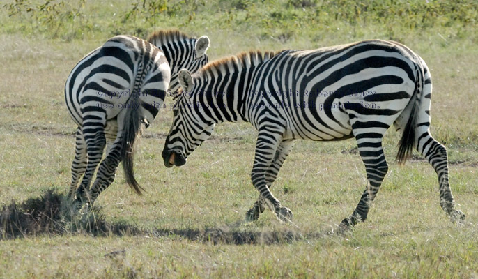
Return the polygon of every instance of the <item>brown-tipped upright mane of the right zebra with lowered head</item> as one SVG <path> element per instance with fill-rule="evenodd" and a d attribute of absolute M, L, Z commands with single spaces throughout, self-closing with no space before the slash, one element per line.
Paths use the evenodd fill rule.
<path fill-rule="evenodd" d="M 249 68 L 251 66 L 259 65 L 265 61 L 270 60 L 279 52 L 261 52 L 260 50 L 251 50 L 249 52 L 240 52 L 239 54 L 224 57 L 216 61 L 207 63 L 201 68 L 199 72 L 207 72 L 213 69 L 228 68 L 228 66 L 236 65 L 242 68 Z"/>

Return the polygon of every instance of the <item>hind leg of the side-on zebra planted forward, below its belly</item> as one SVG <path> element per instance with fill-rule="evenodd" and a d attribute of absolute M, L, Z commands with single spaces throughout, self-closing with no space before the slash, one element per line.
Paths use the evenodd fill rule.
<path fill-rule="evenodd" d="M 352 215 L 342 220 L 341 227 L 353 227 L 355 224 L 362 223 L 367 219 L 371 202 L 375 199 L 387 174 L 388 165 L 382 149 L 383 135 L 376 133 L 376 137 L 373 137 L 373 134 L 370 133 L 367 135 L 367 138 L 355 135 L 360 157 L 367 172 L 367 189 L 364 190 L 360 202 Z"/>

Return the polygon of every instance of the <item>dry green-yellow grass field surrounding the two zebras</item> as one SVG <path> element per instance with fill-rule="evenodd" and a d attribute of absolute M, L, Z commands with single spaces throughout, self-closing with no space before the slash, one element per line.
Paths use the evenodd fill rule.
<path fill-rule="evenodd" d="M 44 1 L 31 2 L 0 1 L 0 278 L 478 278 L 473 1 L 52 1 L 43 10 Z M 184 167 L 167 169 L 169 110 L 139 144 L 135 172 L 146 194 L 132 193 L 120 170 L 93 217 L 65 218 L 70 70 L 116 33 L 169 27 L 208 35 L 210 59 L 365 38 L 408 45 L 431 69 L 431 133 L 449 151 L 465 222 L 447 220 L 426 161 L 394 163 L 400 135 L 390 130 L 390 170 L 369 219 L 352 232 L 332 233 L 366 185 L 354 140 L 298 142 L 272 188 L 293 225 L 270 211 L 246 224 L 257 197 L 249 179 L 256 131 L 224 123 Z"/>

